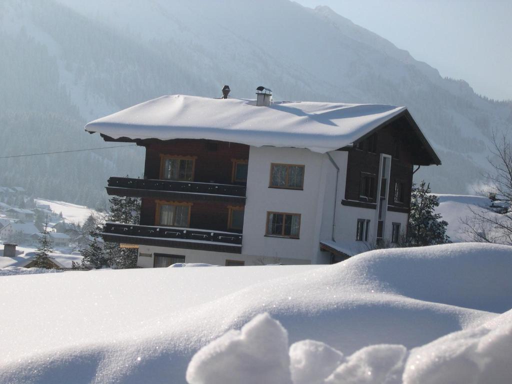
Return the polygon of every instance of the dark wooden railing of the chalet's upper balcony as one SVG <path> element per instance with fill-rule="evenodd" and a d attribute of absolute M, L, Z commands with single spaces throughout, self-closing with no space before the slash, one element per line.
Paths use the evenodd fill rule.
<path fill-rule="evenodd" d="M 131 188 L 170 193 L 194 193 L 245 198 L 245 186 L 233 184 L 197 183 L 191 181 L 130 179 L 111 177 L 107 188 Z"/>

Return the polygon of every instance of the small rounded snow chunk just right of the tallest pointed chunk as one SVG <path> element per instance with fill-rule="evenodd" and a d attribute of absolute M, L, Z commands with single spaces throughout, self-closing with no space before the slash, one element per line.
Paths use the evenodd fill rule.
<path fill-rule="evenodd" d="M 323 384 L 345 360 L 343 353 L 325 343 L 303 340 L 290 346 L 290 371 L 293 384 Z"/>

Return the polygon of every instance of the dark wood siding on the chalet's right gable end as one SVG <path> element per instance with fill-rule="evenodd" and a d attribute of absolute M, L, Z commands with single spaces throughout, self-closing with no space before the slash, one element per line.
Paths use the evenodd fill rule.
<path fill-rule="evenodd" d="M 377 134 L 377 151 L 369 153 L 366 150 L 358 150 L 355 145 L 348 152 L 347 164 L 347 184 L 345 188 L 346 200 L 365 201 L 359 198 L 361 173 L 369 173 L 375 175 L 375 190 L 373 193 L 373 201 L 377 198 L 377 178 L 379 173 L 380 154 L 394 155 L 395 141 L 399 142 L 398 158 L 393 156 L 391 161 L 391 174 L 389 181 L 389 205 L 401 208 L 408 208 L 411 199 L 411 188 L 413 180 L 413 164 L 412 164 L 412 148 L 404 130 L 410 130 L 409 125 L 403 119 L 397 119 L 382 127 L 376 132 Z M 395 182 L 403 182 L 403 203 L 395 203 Z M 349 205 L 347 203 L 346 205 Z M 374 206 L 376 206 L 374 204 Z"/>

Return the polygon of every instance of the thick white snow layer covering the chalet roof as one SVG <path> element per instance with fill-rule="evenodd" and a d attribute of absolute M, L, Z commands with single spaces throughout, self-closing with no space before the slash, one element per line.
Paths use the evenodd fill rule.
<path fill-rule="evenodd" d="M 210 139 L 263 146 L 344 147 L 405 111 L 403 106 L 273 102 L 170 95 L 94 120 L 86 131 L 114 139 Z"/>

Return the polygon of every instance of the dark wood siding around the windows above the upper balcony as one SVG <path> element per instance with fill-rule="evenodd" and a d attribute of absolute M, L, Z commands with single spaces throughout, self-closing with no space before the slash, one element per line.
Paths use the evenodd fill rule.
<path fill-rule="evenodd" d="M 160 178 L 160 155 L 195 156 L 194 180 L 231 184 L 232 159 L 249 159 L 249 146 L 213 140 L 176 139 L 146 145 L 144 177 Z"/>

